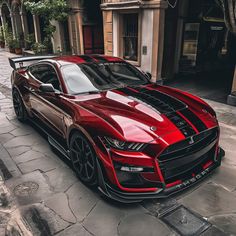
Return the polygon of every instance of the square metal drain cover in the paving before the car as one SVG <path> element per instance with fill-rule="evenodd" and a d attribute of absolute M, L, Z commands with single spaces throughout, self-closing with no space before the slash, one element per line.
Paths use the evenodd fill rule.
<path fill-rule="evenodd" d="M 211 226 L 208 221 L 184 206 L 177 207 L 161 219 L 182 236 L 200 235 Z"/>

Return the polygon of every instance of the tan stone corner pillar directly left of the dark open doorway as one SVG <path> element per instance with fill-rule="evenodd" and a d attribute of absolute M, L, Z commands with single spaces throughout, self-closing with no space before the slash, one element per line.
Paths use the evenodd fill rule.
<path fill-rule="evenodd" d="M 164 25 L 166 1 L 160 0 L 153 10 L 153 40 L 152 40 L 152 81 L 161 82 L 161 69 L 164 51 Z"/>

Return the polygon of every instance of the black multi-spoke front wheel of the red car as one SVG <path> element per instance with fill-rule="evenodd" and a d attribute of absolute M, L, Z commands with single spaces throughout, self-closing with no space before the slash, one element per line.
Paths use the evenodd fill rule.
<path fill-rule="evenodd" d="M 75 132 L 70 139 L 70 158 L 78 178 L 88 186 L 98 182 L 95 151 L 84 135 Z"/>

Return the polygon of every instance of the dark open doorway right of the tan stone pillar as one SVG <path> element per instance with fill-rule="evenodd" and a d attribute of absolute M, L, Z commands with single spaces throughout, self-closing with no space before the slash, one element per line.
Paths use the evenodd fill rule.
<path fill-rule="evenodd" d="M 164 57 L 163 64 L 171 67 L 170 69 L 164 67 L 165 84 L 202 98 L 227 103 L 236 63 L 236 39 L 227 30 L 223 13 L 214 0 L 189 0 L 186 2 L 188 4 L 185 5 L 186 10 L 183 13 L 178 72 L 177 74 L 170 73 L 170 71 L 174 71 L 173 59 L 171 56 Z M 177 21 L 178 11 L 181 7 L 184 6 L 171 9 L 169 17 L 171 14 L 172 18 Z M 173 31 L 173 27 L 165 30 L 167 32 L 168 30 Z M 166 34 L 166 52 L 171 48 L 168 44 L 170 42 L 168 35 L 171 35 L 172 39 L 174 37 L 173 32 Z M 174 35 L 177 35 L 177 30 Z M 172 58 L 174 50 L 173 46 Z M 167 61 L 168 63 L 166 63 Z"/>

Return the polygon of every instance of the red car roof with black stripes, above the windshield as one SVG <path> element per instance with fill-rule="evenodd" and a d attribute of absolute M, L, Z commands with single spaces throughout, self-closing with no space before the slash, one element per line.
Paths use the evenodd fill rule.
<path fill-rule="evenodd" d="M 60 56 L 52 58 L 53 61 L 61 65 L 82 64 L 82 63 L 106 63 L 106 62 L 124 62 L 121 58 L 105 55 L 73 55 Z"/>

